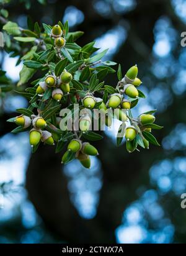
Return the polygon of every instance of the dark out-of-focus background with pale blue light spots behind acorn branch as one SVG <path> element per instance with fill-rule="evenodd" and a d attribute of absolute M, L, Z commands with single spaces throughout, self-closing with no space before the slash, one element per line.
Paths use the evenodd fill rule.
<path fill-rule="evenodd" d="M 155 132 L 162 147 L 128 154 L 125 145 L 116 147 L 115 132 L 107 131 L 95 144 L 100 155 L 92 158 L 90 170 L 76 161 L 63 167 L 52 147 L 31 155 L 27 134 L 9 133 L 14 127 L 6 119 L 27 101 L 1 92 L 0 243 L 185 243 L 180 195 L 186 192 L 186 48 L 180 34 L 186 28 L 186 1 L 0 2 L 20 27 L 27 27 L 27 16 L 40 25 L 68 19 L 71 31 L 85 32 L 79 45 L 96 40 L 101 50 L 109 48 L 105 60 L 121 63 L 123 73 L 138 63 L 147 98 L 133 114 L 157 109 L 157 122 L 164 126 Z M 16 62 L 1 50 L 7 84 L 19 80 L 22 63 Z M 116 75 L 107 83 L 115 86 Z M 116 132 L 119 125 L 113 124 Z"/>

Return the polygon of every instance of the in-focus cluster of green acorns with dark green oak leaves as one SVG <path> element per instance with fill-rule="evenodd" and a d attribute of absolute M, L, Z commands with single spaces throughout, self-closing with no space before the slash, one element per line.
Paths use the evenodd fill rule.
<path fill-rule="evenodd" d="M 99 109 L 105 114 L 104 123 L 99 117 L 99 129 L 112 126 L 113 118 L 120 120 L 124 130 L 121 139 L 117 137 L 117 144 L 120 145 L 125 137 L 128 152 L 138 150 L 138 147 L 149 149 L 149 142 L 159 145 L 151 134 L 151 129 L 162 128 L 154 124 L 155 111 L 145 112 L 137 118 L 131 113 L 143 95 L 138 89 L 142 83 L 138 78 L 138 66 L 131 66 L 124 77 L 119 66 L 117 86 L 104 85 L 103 73 L 105 70 L 114 73 L 110 65 L 117 63 L 104 62 L 99 53 L 95 55 L 97 48 L 94 42 L 80 47 L 74 42 L 77 33 L 69 35 L 67 27 L 68 24 L 63 26 L 61 22 L 53 27 L 48 26 L 42 39 L 46 49 L 42 52 L 38 50 L 36 57 L 24 62 L 28 68 L 35 66 L 36 71 L 40 66 L 45 75 L 32 81 L 33 87 L 26 89 L 29 91 L 26 96 L 29 97 L 30 106 L 19 109 L 21 115 L 9 120 L 19 126 L 12 132 L 29 130 L 33 152 L 40 142 L 56 144 L 56 153 L 63 151 L 62 163 L 77 158 L 83 167 L 90 168 L 90 156 L 99 153 L 92 142 L 87 141 L 102 139 L 102 136 L 90 130 L 92 119 L 88 112 L 79 117 L 78 130 L 64 131 L 60 126 L 64 119 L 60 116 L 61 109 L 72 110 L 74 103 L 78 103 L 80 110 L 89 110 L 93 114 L 94 109 Z M 41 58 L 43 55 L 46 55 L 46 60 Z M 114 110 L 114 115 L 110 114 L 110 110 Z"/>

